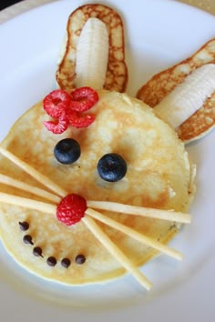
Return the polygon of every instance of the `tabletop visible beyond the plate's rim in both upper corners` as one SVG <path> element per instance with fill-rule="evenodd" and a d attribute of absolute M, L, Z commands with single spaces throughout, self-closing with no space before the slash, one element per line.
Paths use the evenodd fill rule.
<path fill-rule="evenodd" d="M 0 11 L 0 24 L 11 19 L 15 15 L 20 15 L 32 8 L 35 8 L 39 5 L 45 5 L 57 0 L 7 0 L 4 1 L 4 5 L 1 3 Z M 201 10 L 204 10 L 212 15 L 215 15 L 215 0 L 171 0 L 178 1 L 187 5 L 193 5 Z M 14 5 L 12 5 L 14 4 Z M 5 7 L 5 8 L 4 8 Z M 4 10 L 2 10 L 4 9 Z"/>

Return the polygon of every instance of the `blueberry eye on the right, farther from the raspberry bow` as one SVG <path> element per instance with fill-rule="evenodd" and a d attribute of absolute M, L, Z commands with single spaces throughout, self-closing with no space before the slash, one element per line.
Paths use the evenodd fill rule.
<path fill-rule="evenodd" d="M 117 182 L 127 173 L 127 164 L 122 156 L 108 153 L 100 158 L 97 163 L 98 175 L 108 182 Z"/>

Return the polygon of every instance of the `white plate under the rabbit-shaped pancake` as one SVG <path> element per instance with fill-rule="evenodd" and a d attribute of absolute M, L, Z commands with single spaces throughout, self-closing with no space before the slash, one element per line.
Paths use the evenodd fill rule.
<path fill-rule="evenodd" d="M 124 18 L 131 95 L 151 75 L 214 36 L 214 16 L 188 5 L 168 0 L 101 2 Z M 83 3 L 44 5 L 1 25 L 0 139 L 18 116 L 53 88 L 67 16 Z M 176 263 L 162 256 L 143 267 L 154 282 L 151 292 L 129 276 L 105 287 L 56 287 L 26 274 L 1 247 L 1 321 L 214 321 L 214 140 L 213 131 L 188 146 L 198 165 L 198 191 L 190 209 L 193 222 L 171 242 L 185 259 Z"/>

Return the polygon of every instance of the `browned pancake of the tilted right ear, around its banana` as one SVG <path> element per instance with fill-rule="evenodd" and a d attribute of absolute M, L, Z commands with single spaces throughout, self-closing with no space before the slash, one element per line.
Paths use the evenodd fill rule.
<path fill-rule="evenodd" d="M 215 39 L 211 39 L 189 58 L 154 75 L 147 84 L 138 89 L 137 97 L 148 106 L 157 106 L 187 75 L 205 64 L 215 64 Z M 189 142 L 204 136 L 214 125 L 215 92 L 196 113 L 179 126 L 177 132 L 184 142 Z"/>

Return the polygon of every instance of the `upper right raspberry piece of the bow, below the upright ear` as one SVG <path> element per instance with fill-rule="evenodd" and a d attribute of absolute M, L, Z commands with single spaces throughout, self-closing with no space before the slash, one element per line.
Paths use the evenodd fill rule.
<path fill-rule="evenodd" d="M 91 87 L 79 87 L 71 94 L 70 107 L 73 111 L 84 112 L 94 106 L 98 101 L 97 92 Z"/>

